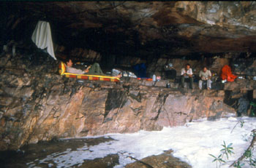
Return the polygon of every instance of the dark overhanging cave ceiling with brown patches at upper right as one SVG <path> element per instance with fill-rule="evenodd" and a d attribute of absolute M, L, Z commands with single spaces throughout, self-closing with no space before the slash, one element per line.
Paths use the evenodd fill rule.
<path fill-rule="evenodd" d="M 8 17 L 19 15 L 30 20 L 31 28 L 37 20 L 48 20 L 56 43 L 113 55 L 256 51 L 255 1 L 48 1 L 4 5 L 12 11 Z"/>

